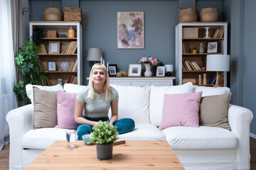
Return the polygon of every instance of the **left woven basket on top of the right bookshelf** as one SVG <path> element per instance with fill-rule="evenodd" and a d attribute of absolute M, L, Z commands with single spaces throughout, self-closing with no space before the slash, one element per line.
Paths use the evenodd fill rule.
<path fill-rule="evenodd" d="M 178 21 L 180 23 L 197 21 L 198 15 L 196 14 L 196 8 L 179 9 Z"/>

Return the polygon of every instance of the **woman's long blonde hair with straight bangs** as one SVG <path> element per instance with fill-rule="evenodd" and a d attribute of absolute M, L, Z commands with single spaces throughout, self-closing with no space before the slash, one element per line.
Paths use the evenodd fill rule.
<path fill-rule="evenodd" d="M 100 63 L 96 63 L 92 66 L 92 69 L 90 71 L 90 79 L 89 79 L 89 94 L 88 97 L 90 99 L 93 99 L 95 97 L 95 90 L 93 89 L 93 81 L 92 81 L 92 72 L 94 69 L 102 69 L 103 71 L 105 71 L 106 74 L 106 80 L 105 80 L 105 84 L 104 84 L 104 92 L 105 92 L 105 100 L 109 100 L 111 97 L 111 89 L 110 89 L 110 77 L 109 74 L 107 72 L 107 69 L 105 67 L 104 64 L 100 64 Z"/>

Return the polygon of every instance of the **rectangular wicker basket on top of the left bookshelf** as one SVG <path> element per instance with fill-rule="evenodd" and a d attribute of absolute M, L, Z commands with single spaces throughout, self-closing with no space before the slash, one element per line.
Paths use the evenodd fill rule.
<path fill-rule="evenodd" d="M 82 21 L 81 8 L 71 10 L 70 7 L 64 7 L 64 21 Z"/>

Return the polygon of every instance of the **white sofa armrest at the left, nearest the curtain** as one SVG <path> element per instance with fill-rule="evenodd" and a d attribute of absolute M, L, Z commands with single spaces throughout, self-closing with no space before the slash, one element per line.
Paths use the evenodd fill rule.
<path fill-rule="evenodd" d="M 6 120 L 10 130 L 9 169 L 22 169 L 22 139 L 33 128 L 33 105 L 9 111 Z"/>

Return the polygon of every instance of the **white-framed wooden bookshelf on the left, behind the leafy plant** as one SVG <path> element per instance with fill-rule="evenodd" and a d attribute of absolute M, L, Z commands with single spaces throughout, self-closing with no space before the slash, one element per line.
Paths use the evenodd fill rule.
<path fill-rule="evenodd" d="M 63 79 L 63 84 L 65 84 L 71 77 L 77 77 L 77 84 L 82 84 L 82 25 L 78 21 L 58 21 L 58 22 L 48 22 L 48 21 L 31 21 L 30 26 L 30 36 L 33 35 L 34 28 L 43 29 L 44 37 L 43 45 L 46 47 L 46 52 L 44 54 L 38 54 L 46 76 L 48 77 L 48 83 L 55 85 L 57 84 L 57 79 Z M 75 29 L 75 38 L 68 38 L 68 28 L 72 26 Z M 48 38 L 47 31 L 56 30 L 56 38 Z M 65 35 L 65 38 L 60 38 L 60 34 Z M 59 53 L 49 54 L 49 43 L 59 42 L 60 49 Z M 73 42 L 73 46 L 70 46 L 69 54 L 62 52 L 68 47 L 68 44 Z M 76 46 L 75 46 L 76 45 Z M 62 62 L 72 62 L 78 61 L 75 71 L 62 71 L 60 69 L 60 64 Z M 48 62 L 55 62 L 55 71 L 48 70 Z"/>

